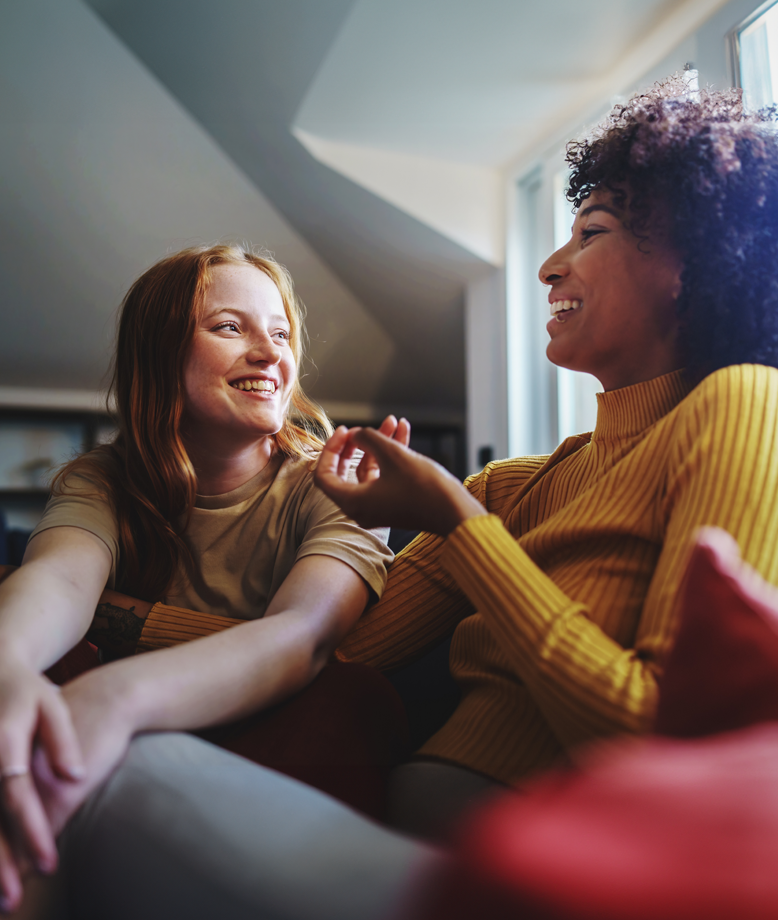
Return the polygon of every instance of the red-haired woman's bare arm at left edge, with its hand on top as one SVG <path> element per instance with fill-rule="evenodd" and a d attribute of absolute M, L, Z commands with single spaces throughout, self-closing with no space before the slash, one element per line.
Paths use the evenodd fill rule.
<path fill-rule="evenodd" d="M 39 869 L 56 865 L 54 838 L 26 772 L 38 744 L 54 773 L 70 780 L 83 761 L 68 707 L 41 671 L 86 632 L 111 566 L 108 548 L 76 527 L 38 534 L 20 569 L 0 585 L 0 773 L 5 826 Z M 15 903 L 19 878 L 0 859 L 0 885 Z"/>

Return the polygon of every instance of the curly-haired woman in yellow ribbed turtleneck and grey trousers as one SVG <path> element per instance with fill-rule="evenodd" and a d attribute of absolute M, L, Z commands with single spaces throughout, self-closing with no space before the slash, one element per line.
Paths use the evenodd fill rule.
<path fill-rule="evenodd" d="M 425 531 L 340 654 L 391 669 L 453 632 L 462 699 L 399 768 L 404 828 L 439 833 L 473 798 L 583 742 L 650 729 L 701 525 L 729 531 L 778 582 L 774 120 L 748 114 L 736 92 L 691 94 L 678 78 L 617 106 L 568 148 L 572 238 L 540 278 L 549 358 L 602 383 L 592 433 L 551 456 L 491 463 L 464 486 L 380 432 L 338 429 L 325 447 L 316 479 L 347 514 Z M 347 481 L 356 448 L 380 476 Z M 198 743 L 135 742 L 73 823 L 74 878 L 100 873 L 82 910 L 131 917 L 157 890 L 159 916 L 171 904 L 188 916 L 218 904 L 238 917 L 250 904 L 246 916 L 381 917 L 419 864 L 437 858 Z M 234 784 L 196 827 L 229 846 L 229 868 L 202 847 L 184 854 L 186 834 L 153 823 L 153 803 L 191 764 L 188 804 L 215 788 L 217 773 Z M 125 859 L 147 881 L 118 909 Z"/>

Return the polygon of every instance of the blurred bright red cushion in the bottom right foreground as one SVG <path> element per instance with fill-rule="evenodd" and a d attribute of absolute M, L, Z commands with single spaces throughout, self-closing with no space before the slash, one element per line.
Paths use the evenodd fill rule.
<path fill-rule="evenodd" d="M 778 726 L 614 745 L 462 829 L 426 920 L 775 920 Z"/>

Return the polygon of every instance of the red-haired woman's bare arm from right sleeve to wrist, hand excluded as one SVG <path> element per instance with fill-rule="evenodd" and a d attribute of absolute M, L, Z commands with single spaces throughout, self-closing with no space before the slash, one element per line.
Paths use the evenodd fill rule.
<path fill-rule="evenodd" d="M 367 594 L 345 563 L 307 556 L 295 563 L 262 619 L 114 662 L 80 680 L 111 696 L 131 732 L 238 719 L 306 686 L 362 612 Z"/>

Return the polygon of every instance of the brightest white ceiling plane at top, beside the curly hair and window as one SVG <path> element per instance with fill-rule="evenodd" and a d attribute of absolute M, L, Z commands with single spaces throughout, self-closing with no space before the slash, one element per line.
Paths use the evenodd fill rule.
<path fill-rule="evenodd" d="M 293 131 L 322 163 L 501 265 L 516 165 L 579 133 L 670 49 L 694 58 L 684 41 L 722 2 L 356 0 Z M 676 58 L 669 72 L 689 63 Z"/>

